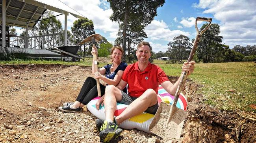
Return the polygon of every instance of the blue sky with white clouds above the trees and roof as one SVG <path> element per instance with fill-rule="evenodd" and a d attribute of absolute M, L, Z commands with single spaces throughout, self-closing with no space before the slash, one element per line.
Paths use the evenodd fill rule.
<path fill-rule="evenodd" d="M 55 1 L 55 0 L 52 0 Z M 113 13 L 106 0 L 60 0 L 94 23 L 95 32 L 113 43 L 119 25 L 109 16 Z M 158 7 L 157 16 L 145 27 L 154 52 L 167 51 L 167 44 L 175 36 L 186 35 L 192 40 L 196 36 L 195 18 L 211 17 L 212 23 L 220 25 L 223 44 L 232 49 L 235 45 L 256 45 L 256 0 L 165 0 Z M 58 15 L 59 13 L 55 13 Z M 58 16 L 64 29 L 64 15 Z M 77 20 L 68 16 L 68 30 Z M 204 22 L 198 22 L 198 29 Z M 19 30 L 17 31 L 19 35 Z"/>

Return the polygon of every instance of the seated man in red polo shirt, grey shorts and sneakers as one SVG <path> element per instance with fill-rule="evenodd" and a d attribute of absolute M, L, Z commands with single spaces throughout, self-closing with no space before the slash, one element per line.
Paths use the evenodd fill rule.
<path fill-rule="evenodd" d="M 109 142 L 122 132 L 117 125 L 133 116 L 148 112 L 155 114 L 158 109 L 158 85 L 160 84 L 169 94 L 175 94 L 181 76 L 172 84 L 163 70 L 148 61 L 152 47 L 148 42 L 141 42 L 137 46 L 136 56 L 138 62 L 128 65 L 122 75 L 122 80 L 115 87 L 108 85 L 105 95 L 96 103 L 97 109 L 104 100 L 106 120 L 96 119 L 96 128 L 100 130 L 100 139 Z M 188 71 L 188 75 L 194 71 L 195 62 L 185 62 L 182 72 Z M 128 84 L 128 94 L 122 89 Z M 119 116 L 114 119 L 117 102 L 129 105 Z M 114 122 L 114 123 L 113 123 Z"/>

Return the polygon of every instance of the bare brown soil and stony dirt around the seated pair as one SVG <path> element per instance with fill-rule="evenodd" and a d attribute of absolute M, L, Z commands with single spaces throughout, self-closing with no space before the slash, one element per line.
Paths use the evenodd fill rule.
<path fill-rule="evenodd" d="M 67 65 L 0 65 L 0 142 L 100 143 L 95 116 L 63 113 L 58 107 L 74 101 L 91 67 Z M 172 82 L 177 77 L 169 77 Z M 202 104 L 202 85 L 188 81 L 189 101 L 182 137 L 165 140 L 140 130 L 124 130 L 114 142 L 256 142 L 255 123 L 236 111 L 221 111 Z"/>

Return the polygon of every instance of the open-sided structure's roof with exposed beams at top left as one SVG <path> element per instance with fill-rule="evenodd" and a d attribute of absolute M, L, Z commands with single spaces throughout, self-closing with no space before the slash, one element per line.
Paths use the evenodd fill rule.
<path fill-rule="evenodd" d="M 2 0 L 0 0 L 0 5 L 2 22 Z M 70 13 L 76 18 L 84 18 L 80 13 L 59 0 L 6 0 L 6 25 L 26 27 L 27 23 L 38 21 L 46 9 L 61 14 Z M 33 28 L 35 24 L 36 22 L 28 24 L 28 28 Z"/>

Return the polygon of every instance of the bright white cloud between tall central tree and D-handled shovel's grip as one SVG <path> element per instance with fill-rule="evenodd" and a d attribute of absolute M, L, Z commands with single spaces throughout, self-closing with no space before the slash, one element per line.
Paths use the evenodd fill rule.
<path fill-rule="evenodd" d="M 163 22 L 163 20 L 153 20 L 151 24 L 149 24 L 145 31 L 148 35 L 148 38 L 151 40 L 165 40 L 171 41 L 175 36 L 179 36 L 180 34 L 189 36 L 189 32 L 184 32 L 180 30 L 170 30 L 168 25 Z"/>

